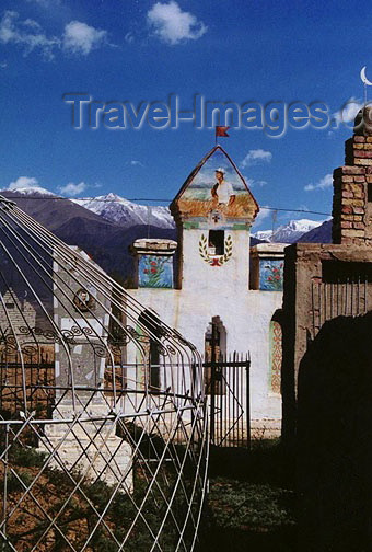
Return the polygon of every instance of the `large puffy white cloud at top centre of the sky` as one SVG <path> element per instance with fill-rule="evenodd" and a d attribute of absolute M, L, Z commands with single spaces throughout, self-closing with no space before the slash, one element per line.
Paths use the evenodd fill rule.
<path fill-rule="evenodd" d="M 148 11 L 148 23 L 162 42 L 172 46 L 186 41 L 196 41 L 208 30 L 193 13 L 182 11 L 174 1 L 156 2 Z"/>

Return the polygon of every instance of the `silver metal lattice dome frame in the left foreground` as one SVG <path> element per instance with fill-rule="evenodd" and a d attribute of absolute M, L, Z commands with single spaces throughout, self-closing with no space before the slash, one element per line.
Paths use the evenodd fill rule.
<path fill-rule="evenodd" d="M 0 380 L 1 550 L 194 550 L 198 352 L 1 196 Z"/>

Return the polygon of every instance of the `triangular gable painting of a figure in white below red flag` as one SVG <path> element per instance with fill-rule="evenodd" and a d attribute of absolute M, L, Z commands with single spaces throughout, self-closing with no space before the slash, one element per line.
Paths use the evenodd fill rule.
<path fill-rule="evenodd" d="M 243 176 L 219 146 L 191 173 L 176 202 L 189 218 L 208 218 L 218 226 L 226 219 L 253 219 L 258 210 Z"/>

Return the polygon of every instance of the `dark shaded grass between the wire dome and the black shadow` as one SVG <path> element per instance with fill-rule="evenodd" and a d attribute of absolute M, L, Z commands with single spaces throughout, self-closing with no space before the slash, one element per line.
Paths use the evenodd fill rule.
<path fill-rule="evenodd" d="M 198 552 L 294 552 L 293 470 L 280 441 L 212 450 L 211 468 Z"/>

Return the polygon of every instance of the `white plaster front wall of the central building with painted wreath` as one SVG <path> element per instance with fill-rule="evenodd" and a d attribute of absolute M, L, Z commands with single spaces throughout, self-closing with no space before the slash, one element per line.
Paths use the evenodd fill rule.
<path fill-rule="evenodd" d="M 226 329 L 228 353 L 251 353 L 251 417 L 280 419 L 281 396 L 269 389 L 269 323 L 281 308 L 282 292 L 248 290 L 249 233 L 226 231 L 233 239 L 233 255 L 223 266 L 210 266 L 199 255 L 201 234 L 184 231 L 183 287 L 132 289 L 129 292 L 161 320 L 205 348 L 205 332 L 212 317 Z"/>

